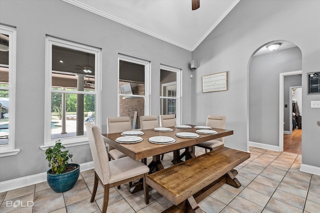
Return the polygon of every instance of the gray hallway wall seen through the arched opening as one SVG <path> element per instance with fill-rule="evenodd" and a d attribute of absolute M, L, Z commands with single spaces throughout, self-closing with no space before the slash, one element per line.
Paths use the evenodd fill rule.
<path fill-rule="evenodd" d="M 249 66 L 249 141 L 278 146 L 279 73 L 301 70 L 301 51 L 293 47 L 257 55 Z M 284 85 L 285 104 L 289 101 L 288 86 L 291 85 Z"/>

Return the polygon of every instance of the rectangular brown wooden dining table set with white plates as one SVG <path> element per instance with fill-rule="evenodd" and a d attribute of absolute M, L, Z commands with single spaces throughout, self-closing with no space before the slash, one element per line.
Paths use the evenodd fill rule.
<path fill-rule="evenodd" d="M 185 125 L 182 125 L 185 126 Z M 150 169 L 149 173 L 159 171 L 164 169 L 160 160 L 160 155 L 163 153 L 171 152 L 174 153 L 174 164 L 179 163 L 179 150 L 185 149 L 185 160 L 194 158 L 194 146 L 198 143 L 214 140 L 217 138 L 229 136 L 233 134 L 233 130 L 211 128 L 211 130 L 216 131 L 215 134 L 199 134 L 196 125 L 187 125 L 189 128 L 177 128 L 178 126 L 168 127 L 170 131 L 155 131 L 154 129 L 141 130 L 143 132 L 139 137 L 142 138 L 138 143 L 118 143 L 117 138 L 122 137 L 121 132 L 102 134 L 105 137 L 104 141 L 108 145 L 119 150 L 126 156 L 133 160 L 141 160 L 146 164 L 146 158 L 152 157 L 152 161 L 148 164 Z M 178 137 L 177 134 L 181 133 L 196 133 L 198 137 Z M 175 141 L 173 143 L 151 143 L 149 139 L 156 136 L 165 136 L 173 138 Z M 129 190 L 131 193 L 135 193 L 141 190 L 140 187 L 132 186 Z"/>

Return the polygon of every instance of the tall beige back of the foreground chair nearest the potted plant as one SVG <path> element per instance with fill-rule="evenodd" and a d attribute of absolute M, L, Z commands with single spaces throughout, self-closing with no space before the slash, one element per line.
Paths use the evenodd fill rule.
<path fill-rule="evenodd" d="M 109 160 L 101 132 L 94 124 L 85 123 L 84 125 L 89 139 L 94 171 L 103 184 L 108 184 L 110 180 Z"/>

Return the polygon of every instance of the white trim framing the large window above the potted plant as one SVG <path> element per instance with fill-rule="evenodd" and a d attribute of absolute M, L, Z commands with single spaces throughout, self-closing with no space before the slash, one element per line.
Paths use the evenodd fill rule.
<path fill-rule="evenodd" d="M 45 109 L 44 109 L 44 145 L 40 149 L 46 150 L 50 146 L 54 146 L 58 139 L 51 139 L 51 67 L 52 67 L 52 45 L 71 48 L 79 51 L 88 52 L 95 55 L 95 92 L 90 94 L 95 95 L 95 125 L 101 128 L 101 49 L 87 46 L 51 36 L 45 37 Z M 82 92 L 81 92 L 82 93 Z M 87 136 L 76 136 L 61 138 L 61 143 L 65 147 L 79 146 L 88 144 Z"/>

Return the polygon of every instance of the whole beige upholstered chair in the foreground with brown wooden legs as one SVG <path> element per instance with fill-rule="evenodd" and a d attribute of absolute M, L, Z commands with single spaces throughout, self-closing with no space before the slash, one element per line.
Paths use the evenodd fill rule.
<path fill-rule="evenodd" d="M 91 123 L 85 123 L 85 128 L 94 165 L 94 184 L 90 202 L 92 203 L 94 201 L 99 181 L 103 187 L 102 213 L 106 213 L 110 188 L 142 178 L 144 203 L 148 204 L 149 193 L 148 185 L 145 183 L 145 177 L 149 172 L 149 168 L 129 157 L 109 162 L 99 128 Z"/>

